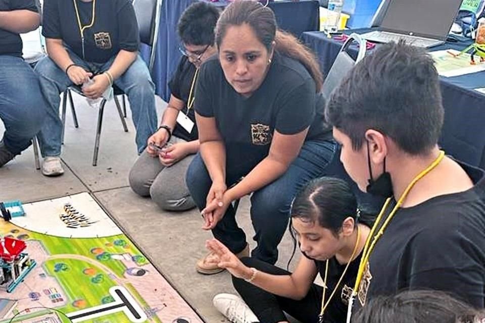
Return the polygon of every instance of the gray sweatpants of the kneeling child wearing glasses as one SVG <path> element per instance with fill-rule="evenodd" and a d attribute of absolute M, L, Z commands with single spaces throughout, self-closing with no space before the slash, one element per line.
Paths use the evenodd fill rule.
<path fill-rule="evenodd" d="M 172 137 L 171 143 L 184 142 Z M 195 155 L 188 155 L 170 167 L 144 150 L 130 170 L 131 189 L 140 196 L 151 196 L 164 210 L 184 211 L 196 206 L 185 185 L 185 173 Z"/>

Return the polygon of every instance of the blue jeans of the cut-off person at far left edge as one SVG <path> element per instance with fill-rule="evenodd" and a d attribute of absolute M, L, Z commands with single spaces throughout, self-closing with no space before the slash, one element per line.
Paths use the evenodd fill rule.
<path fill-rule="evenodd" d="M 46 105 L 32 68 L 21 58 L 0 55 L 0 118 L 6 129 L 3 141 L 11 153 L 20 154 L 30 146 Z"/>

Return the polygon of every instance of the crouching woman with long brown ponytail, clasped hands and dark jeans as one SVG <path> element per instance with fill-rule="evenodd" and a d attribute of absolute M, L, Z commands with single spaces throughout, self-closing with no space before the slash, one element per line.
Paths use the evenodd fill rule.
<path fill-rule="evenodd" d="M 252 194 L 252 255 L 275 263 L 293 196 L 326 174 L 335 152 L 319 95 L 322 75 L 313 53 L 279 31 L 271 9 L 258 2 L 230 4 L 215 40 L 219 55 L 201 67 L 196 89 L 201 148 L 187 186 L 203 228 L 239 256 L 249 251 L 232 202 Z M 211 256 L 199 260 L 198 272 L 222 271 Z"/>

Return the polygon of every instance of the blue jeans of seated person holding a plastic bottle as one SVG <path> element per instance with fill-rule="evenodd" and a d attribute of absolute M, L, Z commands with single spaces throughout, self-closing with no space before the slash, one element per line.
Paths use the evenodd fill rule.
<path fill-rule="evenodd" d="M 88 63 L 66 48 L 74 64 L 93 73 L 107 71 L 115 57 L 106 63 Z M 59 117 L 60 93 L 73 85 L 69 77 L 53 60 L 45 57 L 35 66 L 40 76 L 42 93 L 49 101 L 48 117 L 39 134 L 42 156 L 59 156 L 61 154 L 62 121 Z M 155 85 L 152 82 L 147 65 L 138 55 L 136 61 L 114 83 L 128 95 L 133 124 L 136 128 L 136 147 L 141 153 L 147 146 L 148 138 L 157 129 L 155 110 Z"/>

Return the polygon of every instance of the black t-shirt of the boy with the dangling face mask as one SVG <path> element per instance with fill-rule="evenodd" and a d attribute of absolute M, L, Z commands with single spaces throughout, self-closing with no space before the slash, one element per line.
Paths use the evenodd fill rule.
<path fill-rule="evenodd" d="M 482 170 L 460 166 L 475 184 L 473 188 L 396 212 L 370 255 L 370 271 L 360 285 L 357 307 L 377 295 L 432 289 L 483 308 L 485 178 Z"/>

